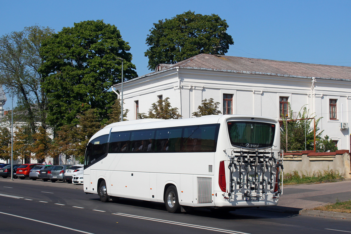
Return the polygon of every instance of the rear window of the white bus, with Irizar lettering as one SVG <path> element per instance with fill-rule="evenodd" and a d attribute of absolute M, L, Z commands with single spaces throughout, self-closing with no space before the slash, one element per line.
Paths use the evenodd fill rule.
<path fill-rule="evenodd" d="M 241 148 L 270 148 L 273 146 L 276 125 L 253 121 L 227 122 L 232 146 Z"/>

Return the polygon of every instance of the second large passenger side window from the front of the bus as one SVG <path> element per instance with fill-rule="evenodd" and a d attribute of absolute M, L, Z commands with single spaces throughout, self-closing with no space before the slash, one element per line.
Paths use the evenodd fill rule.
<path fill-rule="evenodd" d="M 131 152 L 149 152 L 153 149 L 154 130 L 140 130 L 131 133 L 130 151 Z"/>

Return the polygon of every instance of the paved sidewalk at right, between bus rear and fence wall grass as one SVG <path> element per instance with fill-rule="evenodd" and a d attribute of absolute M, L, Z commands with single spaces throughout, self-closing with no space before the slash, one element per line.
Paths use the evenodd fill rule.
<path fill-rule="evenodd" d="M 351 180 L 330 183 L 286 185 L 283 186 L 283 195 L 279 198 L 278 206 L 260 207 L 260 209 L 292 214 L 351 219 L 351 213 L 309 210 L 314 207 L 336 203 L 337 200 L 351 200 Z"/>

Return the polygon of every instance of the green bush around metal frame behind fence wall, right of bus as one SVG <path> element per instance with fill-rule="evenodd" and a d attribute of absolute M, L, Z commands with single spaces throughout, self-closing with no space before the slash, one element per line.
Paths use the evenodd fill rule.
<path fill-rule="evenodd" d="M 289 116 L 293 116 L 293 111 L 288 102 Z M 302 106 L 298 112 L 298 118 L 295 121 L 287 121 L 282 116 L 283 126 L 280 132 L 280 147 L 286 151 L 302 151 L 302 150 L 314 150 L 314 127 L 313 114 L 309 114 L 309 110 L 306 105 Z M 305 119 L 305 120 L 299 120 Z M 316 148 L 319 146 L 319 141 L 323 131 L 319 131 L 318 123 L 322 118 L 316 119 Z M 287 127 L 287 148 L 286 148 L 286 127 Z"/>

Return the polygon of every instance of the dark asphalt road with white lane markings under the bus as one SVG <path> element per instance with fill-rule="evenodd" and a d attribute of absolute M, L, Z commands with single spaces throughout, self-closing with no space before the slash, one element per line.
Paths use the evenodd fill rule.
<path fill-rule="evenodd" d="M 161 203 L 102 203 L 81 185 L 41 180 L 0 178 L 0 204 L 0 233 L 351 233 L 350 220 L 256 208 L 171 214 Z"/>

